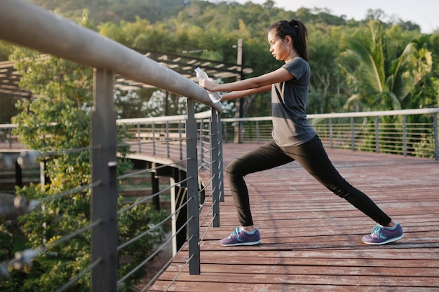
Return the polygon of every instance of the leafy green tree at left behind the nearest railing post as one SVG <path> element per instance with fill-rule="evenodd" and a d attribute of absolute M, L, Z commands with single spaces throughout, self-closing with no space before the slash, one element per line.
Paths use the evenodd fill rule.
<path fill-rule="evenodd" d="M 86 14 L 81 25 L 88 25 Z M 66 190 L 90 184 L 90 104 L 92 70 L 66 60 L 41 55 L 25 48 L 15 48 L 15 67 L 22 75 L 20 86 L 32 90 L 34 99 L 18 102 L 20 113 L 13 118 L 16 133 L 29 149 L 43 153 L 46 185 L 17 188 L 28 200 L 43 199 Z M 121 133 L 123 134 L 123 133 Z M 119 174 L 131 167 L 127 147 L 119 147 Z M 42 208 L 19 217 L 21 230 L 29 247 L 38 249 L 90 224 L 90 189 L 44 202 Z M 137 206 L 119 216 L 120 243 L 144 232 L 163 220 L 165 214 L 149 206 Z M 165 230 L 130 244 L 120 256 L 119 276 L 138 265 L 161 241 Z M 50 246 L 48 252 L 34 258 L 32 267 L 14 271 L 11 279 L 0 283 L 1 291 L 54 291 L 90 265 L 90 232 L 83 232 L 67 242 Z M 127 291 L 144 276 L 139 270 L 125 283 Z M 20 288 L 17 288 L 20 287 Z M 90 291 L 90 274 L 79 279 L 69 291 Z"/>

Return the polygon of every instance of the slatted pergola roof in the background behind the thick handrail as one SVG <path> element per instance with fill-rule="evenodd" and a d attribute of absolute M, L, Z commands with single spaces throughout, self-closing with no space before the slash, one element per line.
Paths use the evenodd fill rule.
<path fill-rule="evenodd" d="M 194 70 L 196 67 L 203 69 L 211 78 L 242 78 L 244 74 L 252 73 L 251 68 L 241 67 L 239 64 L 203 60 L 184 55 L 171 55 L 163 53 L 146 53 L 145 57 L 158 62 L 165 67 L 173 69 L 177 73 L 196 81 Z M 12 95 L 15 98 L 30 98 L 32 92 L 20 88 L 20 74 L 14 67 L 14 62 L 0 62 L 0 92 Z M 115 88 L 119 90 L 139 90 L 152 88 L 151 85 L 132 81 L 122 76 L 115 76 Z"/>

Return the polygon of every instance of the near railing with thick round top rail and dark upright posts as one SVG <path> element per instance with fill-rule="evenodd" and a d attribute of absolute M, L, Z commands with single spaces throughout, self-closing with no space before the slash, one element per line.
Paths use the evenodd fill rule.
<path fill-rule="evenodd" d="M 213 173 L 212 196 L 214 198 L 212 200 L 215 201 L 212 204 L 217 204 L 219 201 L 217 197 L 219 197 L 221 190 L 220 180 L 222 179 L 222 176 L 219 175 L 221 170 L 219 143 L 221 125 L 218 114 L 221 111 L 221 104 L 213 104 L 203 88 L 175 71 L 163 67 L 90 29 L 76 25 L 22 0 L 3 0 L 0 2 L 0 39 L 94 68 L 92 134 L 90 148 L 86 149 L 86 151 L 90 151 L 91 156 L 92 182 L 88 186 L 80 186 L 75 190 L 45 198 L 45 200 L 55 200 L 71 193 L 90 189 L 92 192 L 91 222 L 72 235 L 65 235 L 62 239 L 52 242 L 50 246 L 42 246 L 39 249 L 30 249 L 19 253 L 7 266 L 21 267 L 30 263 L 32 258 L 47 251 L 53 245 L 60 244 L 61 240 L 64 242 L 81 232 L 91 230 L 92 257 L 90 266 L 67 282 L 65 286 L 60 287 L 58 291 L 64 291 L 88 272 L 91 272 L 92 291 L 96 292 L 117 291 L 118 285 L 130 277 L 131 272 L 121 279 L 117 279 L 118 251 L 123 248 L 123 246 L 118 246 L 117 217 L 122 210 L 117 209 L 117 186 L 119 179 L 122 178 L 116 176 L 118 145 L 116 144 L 113 90 L 114 75 L 119 74 L 124 78 L 188 97 L 184 138 L 187 158 L 181 161 L 185 164 L 186 177 L 175 181 L 175 188 L 185 188 L 187 192 L 185 204 L 187 204 L 188 213 L 186 225 L 188 229 L 189 272 L 199 274 L 198 137 L 194 102 L 201 102 L 212 108 L 209 123 L 210 130 L 213 131 L 209 132 L 208 135 L 212 146 L 210 157 L 214 159 L 210 163 L 210 169 Z M 176 168 L 177 164 L 171 162 L 170 166 Z M 154 169 L 147 170 L 153 171 Z M 27 202 L 20 199 L 17 200 L 16 207 L 21 211 L 32 211 L 41 203 L 41 200 Z M 213 206 L 212 210 L 217 211 L 217 207 Z M 217 225 L 219 216 L 214 215 L 213 217 L 212 225 Z M 150 258 L 152 257 L 153 255 Z M 147 260 L 149 258 L 145 259 L 144 263 Z M 135 269 L 139 268 L 141 267 L 135 267 Z M 0 270 L 7 273 L 4 266 L 1 266 Z"/>

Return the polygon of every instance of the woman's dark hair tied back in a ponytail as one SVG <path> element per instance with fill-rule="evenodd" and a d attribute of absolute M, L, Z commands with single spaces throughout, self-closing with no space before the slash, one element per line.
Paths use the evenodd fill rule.
<path fill-rule="evenodd" d="M 308 38 L 308 31 L 303 22 L 299 20 L 279 20 L 271 25 L 269 31 L 276 30 L 276 35 L 285 39 L 286 36 L 291 36 L 292 47 L 297 51 L 300 57 L 306 62 L 308 60 L 308 49 L 306 48 L 306 39 Z"/>

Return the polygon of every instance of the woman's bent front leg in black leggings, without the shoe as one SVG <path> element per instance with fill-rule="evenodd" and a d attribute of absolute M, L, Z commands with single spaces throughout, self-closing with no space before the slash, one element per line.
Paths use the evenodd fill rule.
<path fill-rule="evenodd" d="M 226 174 L 229 179 L 229 187 L 241 225 L 253 225 L 248 189 L 245 185 L 244 176 L 284 165 L 293 160 L 293 158 L 285 155 L 276 143 L 270 141 L 253 151 L 241 155 L 227 165 Z"/>

